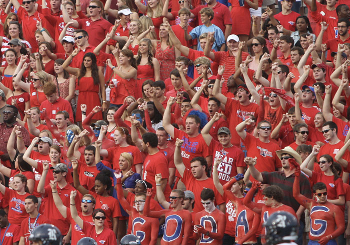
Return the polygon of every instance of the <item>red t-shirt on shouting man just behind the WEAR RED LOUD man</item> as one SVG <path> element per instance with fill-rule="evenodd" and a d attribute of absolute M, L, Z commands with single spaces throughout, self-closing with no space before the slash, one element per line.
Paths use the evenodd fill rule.
<path fill-rule="evenodd" d="M 225 104 L 225 111 L 223 114 L 227 117 L 229 121 L 229 130 L 231 131 L 232 138 L 231 143 L 239 146 L 240 136 L 236 131 L 236 126 L 243 121 L 243 118 L 246 114 L 252 114 L 257 118 L 259 111 L 259 105 L 256 103 L 249 103 L 248 105 L 241 105 L 239 101 L 232 98 L 227 98 Z"/>

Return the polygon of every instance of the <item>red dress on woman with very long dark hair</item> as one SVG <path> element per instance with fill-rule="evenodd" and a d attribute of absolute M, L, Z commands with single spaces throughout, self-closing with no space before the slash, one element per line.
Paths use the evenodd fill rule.
<path fill-rule="evenodd" d="M 86 104 L 86 114 L 90 113 L 91 110 L 96 106 L 101 106 L 101 102 L 98 96 L 99 84 L 93 84 L 93 78 L 91 76 L 83 76 L 78 82 L 78 101 L 76 104 L 75 121 L 81 121 L 81 109 L 80 104 Z M 102 112 L 98 111 L 92 117 L 92 119 L 102 119 Z"/>

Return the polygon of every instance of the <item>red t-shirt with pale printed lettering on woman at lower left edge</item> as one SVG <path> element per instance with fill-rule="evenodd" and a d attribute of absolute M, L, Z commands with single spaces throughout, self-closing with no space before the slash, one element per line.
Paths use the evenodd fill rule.
<path fill-rule="evenodd" d="M 8 200 L 8 222 L 20 226 L 22 220 L 29 216 L 24 208 L 24 199 L 30 194 L 24 193 L 20 195 L 13 189 L 5 188 L 3 198 Z"/>

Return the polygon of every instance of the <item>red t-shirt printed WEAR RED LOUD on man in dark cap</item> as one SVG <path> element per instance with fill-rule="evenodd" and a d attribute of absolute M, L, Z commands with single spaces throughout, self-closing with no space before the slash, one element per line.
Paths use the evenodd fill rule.
<path fill-rule="evenodd" d="M 223 185 L 231 177 L 237 175 L 237 167 L 245 167 L 244 153 L 237 146 L 232 145 L 230 147 L 222 147 L 222 145 L 211 140 L 209 150 L 212 154 L 212 160 L 214 164 L 215 158 L 222 158 L 221 163 L 217 166 L 218 178 Z"/>

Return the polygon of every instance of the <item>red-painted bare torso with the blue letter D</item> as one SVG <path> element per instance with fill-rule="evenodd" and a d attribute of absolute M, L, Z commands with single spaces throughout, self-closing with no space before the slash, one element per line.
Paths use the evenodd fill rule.
<path fill-rule="evenodd" d="M 225 214 L 221 212 L 219 209 L 215 208 L 212 212 L 206 212 L 205 210 L 201 210 L 195 214 L 194 224 L 200 224 L 204 227 L 204 229 L 221 234 L 223 236 L 223 230 L 226 226 Z M 212 245 L 221 245 L 221 239 L 213 239 L 205 234 L 200 234 L 199 244 L 212 244 Z"/>

